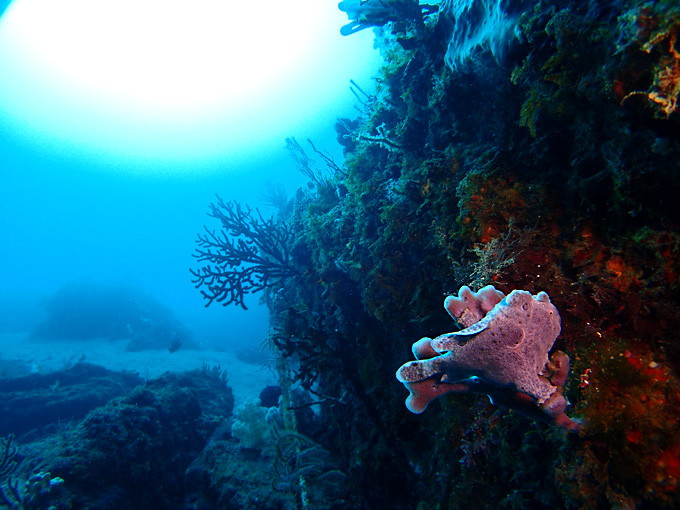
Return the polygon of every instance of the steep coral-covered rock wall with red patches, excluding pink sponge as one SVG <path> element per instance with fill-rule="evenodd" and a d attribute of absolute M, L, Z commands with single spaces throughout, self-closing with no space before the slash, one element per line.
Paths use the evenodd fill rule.
<path fill-rule="evenodd" d="M 680 6 L 538 1 L 515 30 L 452 70 L 444 13 L 379 29 L 345 167 L 298 194 L 272 340 L 352 508 L 680 504 Z M 474 395 L 405 409 L 411 344 L 489 283 L 559 309 L 578 434 Z"/>

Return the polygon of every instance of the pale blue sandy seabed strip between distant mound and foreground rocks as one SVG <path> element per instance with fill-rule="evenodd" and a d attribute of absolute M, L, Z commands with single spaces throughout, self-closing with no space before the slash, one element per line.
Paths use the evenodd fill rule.
<path fill-rule="evenodd" d="M 0 377 L 48 373 L 73 366 L 79 361 L 110 370 L 136 372 L 145 379 L 164 372 L 183 372 L 219 366 L 227 373 L 236 405 L 259 396 L 262 389 L 277 384 L 271 368 L 271 354 L 262 352 L 261 363 L 246 363 L 236 351 L 180 349 L 126 351 L 127 340 L 39 340 L 28 334 L 0 334 Z"/>

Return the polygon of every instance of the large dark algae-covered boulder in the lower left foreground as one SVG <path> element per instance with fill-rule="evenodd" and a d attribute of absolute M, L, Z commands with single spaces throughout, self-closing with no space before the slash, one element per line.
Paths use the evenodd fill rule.
<path fill-rule="evenodd" d="M 22 470 L 61 477 L 78 508 L 179 508 L 184 472 L 232 406 L 219 370 L 167 373 L 24 447 Z"/>

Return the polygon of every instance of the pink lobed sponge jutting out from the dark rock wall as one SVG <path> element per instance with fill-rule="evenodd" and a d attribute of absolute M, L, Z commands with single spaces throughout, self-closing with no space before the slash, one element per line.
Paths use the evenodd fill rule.
<path fill-rule="evenodd" d="M 567 430 L 580 429 L 564 412 L 569 356 L 555 351 L 549 357 L 561 326 L 545 292 L 514 290 L 506 296 L 491 285 L 478 292 L 464 286 L 444 306 L 465 329 L 413 344 L 416 361 L 397 371 L 410 392 L 411 412 L 422 413 L 447 393 L 474 392 Z"/>

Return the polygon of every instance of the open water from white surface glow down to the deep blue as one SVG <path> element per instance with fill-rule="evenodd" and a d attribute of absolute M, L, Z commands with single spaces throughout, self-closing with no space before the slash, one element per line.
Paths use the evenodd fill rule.
<path fill-rule="evenodd" d="M 219 194 L 265 214 L 304 183 L 285 138 L 341 157 L 370 34 L 332 2 L 43 2 L 0 18 L 0 332 L 31 330 L 74 282 L 129 285 L 202 345 L 258 345 L 267 312 L 205 308 L 194 240 Z M 8 79 L 9 77 L 9 79 Z M 1 355 L 1 354 L 0 354 Z"/>

